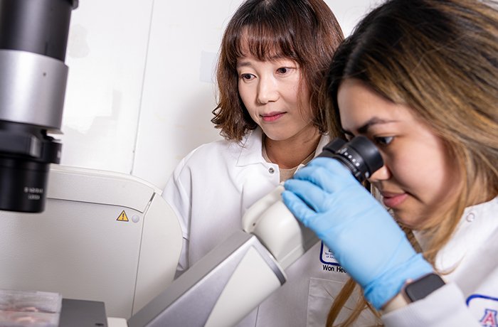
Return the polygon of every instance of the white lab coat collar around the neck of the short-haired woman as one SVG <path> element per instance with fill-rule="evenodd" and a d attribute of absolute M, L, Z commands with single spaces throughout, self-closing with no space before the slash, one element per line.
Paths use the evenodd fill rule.
<path fill-rule="evenodd" d="M 314 157 L 317 157 L 324 146 L 329 143 L 329 136 L 322 135 L 318 142 L 317 151 Z M 263 159 L 263 130 L 259 127 L 248 132 L 248 135 L 243 141 L 243 146 L 240 146 L 240 155 L 238 156 L 237 166 L 248 166 L 250 164 L 269 164 Z"/>

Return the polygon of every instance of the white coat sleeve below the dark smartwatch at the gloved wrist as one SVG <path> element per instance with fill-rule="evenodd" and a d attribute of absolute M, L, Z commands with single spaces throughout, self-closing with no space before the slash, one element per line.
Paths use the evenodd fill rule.
<path fill-rule="evenodd" d="M 386 327 L 481 326 L 467 308 L 462 291 L 456 284 L 446 284 L 425 299 L 386 313 L 381 318 Z"/>

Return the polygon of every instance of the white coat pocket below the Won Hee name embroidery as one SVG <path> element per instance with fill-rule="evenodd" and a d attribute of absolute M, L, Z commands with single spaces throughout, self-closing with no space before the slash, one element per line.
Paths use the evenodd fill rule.
<path fill-rule="evenodd" d="M 327 322 L 327 315 L 330 307 L 342 286 L 346 281 L 332 281 L 328 279 L 309 279 L 308 306 L 307 306 L 307 327 L 324 327 Z M 339 313 L 337 323 L 347 318 L 359 296 L 359 291 L 355 289 L 353 295 L 346 301 L 346 306 Z M 376 317 L 366 309 L 361 316 L 355 321 L 353 326 L 376 326 Z"/>

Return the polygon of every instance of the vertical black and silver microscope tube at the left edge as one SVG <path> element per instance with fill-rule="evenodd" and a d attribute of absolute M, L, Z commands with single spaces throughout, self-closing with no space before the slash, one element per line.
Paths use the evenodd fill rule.
<path fill-rule="evenodd" d="M 49 164 L 60 162 L 68 66 L 78 0 L 0 0 L 0 210 L 40 213 Z"/>

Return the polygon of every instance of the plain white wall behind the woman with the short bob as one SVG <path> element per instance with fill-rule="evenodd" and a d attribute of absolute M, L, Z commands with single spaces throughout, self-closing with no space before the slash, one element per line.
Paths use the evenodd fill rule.
<path fill-rule="evenodd" d="M 347 35 L 379 0 L 326 0 Z M 66 64 L 61 164 L 164 188 L 179 160 L 220 138 L 213 65 L 242 0 L 80 0 Z"/>

